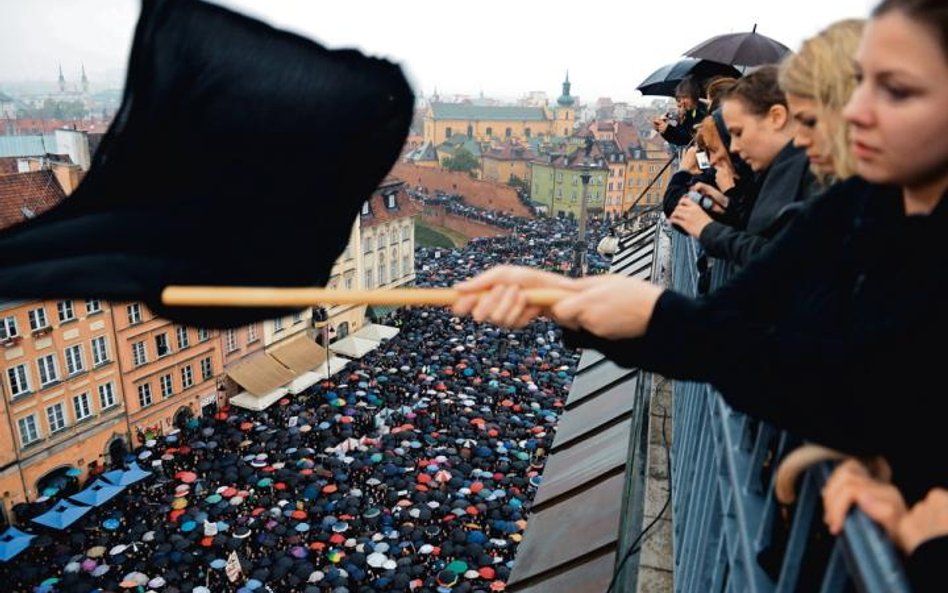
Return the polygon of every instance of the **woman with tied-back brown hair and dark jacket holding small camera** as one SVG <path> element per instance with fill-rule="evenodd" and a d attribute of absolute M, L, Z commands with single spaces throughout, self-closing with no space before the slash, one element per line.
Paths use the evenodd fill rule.
<path fill-rule="evenodd" d="M 724 94 L 721 115 L 730 134 L 729 150 L 755 175 L 742 188 L 746 217 L 731 226 L 714 220 L 707 212 L 713 208 L 682 197 L 668 219 L 698 239 L 708 255 L 745 265 L 786 228 L 796 206 L 811 195 L 815 179 L 806 155 L 794 146 L 796 124 L 777 84 L 776 66 L 763 66 L 738 80 Z M 699 181 L 690 189 L 707 197 L 709 205 L 729 204 L 728 196 L 713 184 Z"/>

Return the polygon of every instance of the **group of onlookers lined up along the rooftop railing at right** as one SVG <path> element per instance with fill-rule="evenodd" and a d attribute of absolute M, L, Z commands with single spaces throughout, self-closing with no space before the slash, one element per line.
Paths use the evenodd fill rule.
<path fill-rule="evenodd" d="M 742 412 L 883 458 L 891 484 L 857 461 L 836 470 L 826 522 L 839 533 L 859 506 L 905 554 L 913 587 L 943 590 L 948 465 L 932 455 L 943 422 L 931 390 L 948 331 L 948 9 L 883 0 L 779 65 L 716 82 L 706 101 L 719 107 L 700 121 L 693 87 L 681 89 L 696 146 L 664 206 L 737 273 L 693 298 L 631 278 L 501 267 L 457 286 L 454 311 L 519 327 L 543 313 L 522 289 L 570 291 L 545 312 L 567 343 L 709 382 Z M 694 130 L 675 131 L 691 143 Z"/>

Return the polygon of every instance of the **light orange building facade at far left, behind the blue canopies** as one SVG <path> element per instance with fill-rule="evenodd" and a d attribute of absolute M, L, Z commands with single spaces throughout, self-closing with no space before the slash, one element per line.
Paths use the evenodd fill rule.
<path fill-rule="evenodd" d="M 75 487 L 124 456 L 129 431 L 109 303 L 2 302 L 0 356 L 0 496 L 9 520 L 17 503 Z"/>

